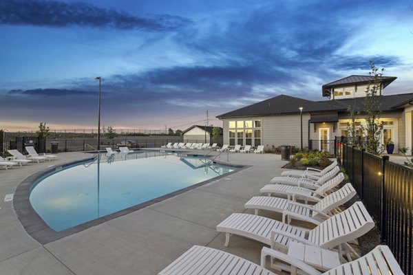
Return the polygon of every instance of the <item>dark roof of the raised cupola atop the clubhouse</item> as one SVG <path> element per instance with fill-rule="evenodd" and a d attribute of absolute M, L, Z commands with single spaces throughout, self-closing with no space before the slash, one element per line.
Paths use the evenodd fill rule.
<path fill-rule="evenodd" d="M 383 83 L 383 89 L 390 85 L 396 77 L 394 76 L 381 76 L 379 81 Z M 347 76 L 345 78 L 341 78 L 339 80 L 335 80 L 333 82 L 327 83 L 323 85 L 321 88 L 323 91 L 323 96 L 330 96 L 330 91 L 332 87 L 343 87 L 343 86 L 350 86 L 350 85 L 364 85 L 368 83 L 372 83 L 374 81 L 373 76 Z"/>

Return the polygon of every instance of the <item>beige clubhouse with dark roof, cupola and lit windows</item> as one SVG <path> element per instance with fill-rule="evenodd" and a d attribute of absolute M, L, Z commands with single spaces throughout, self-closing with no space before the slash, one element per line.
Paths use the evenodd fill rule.
<path fill-rule="evenodd" d="M 361 102 L 372 80 L 372 76 L 348 76 L 323 85 L 322 95 L 328 100 L 312 101 L 281 95 L 218 115 L 224 124 L 223 142 L 242 146 L 300 146 L 299 108 L 302 108 L 303 146 L 330 151 L 335 136 L 346 136 L 349 106 L 360 112 L 357 122 L 366 124 Z M 378 94 L 384 126 L 381 143 L 391 138 L 395 148 L 412 148 L 413 93 L 384 96 L 383 90 L 396 77 L 383 76 L 380 80 Z M 357 132 L 360 137 L 365 134 Z"/>

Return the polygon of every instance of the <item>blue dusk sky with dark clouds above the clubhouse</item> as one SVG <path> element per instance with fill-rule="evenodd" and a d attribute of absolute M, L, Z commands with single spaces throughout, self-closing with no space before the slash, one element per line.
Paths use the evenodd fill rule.
<path fill-rule="evenodd" d="M 0 129 L 187 129 L 369 61 L 413 93 L 413 1 L 0 1 Z"/>

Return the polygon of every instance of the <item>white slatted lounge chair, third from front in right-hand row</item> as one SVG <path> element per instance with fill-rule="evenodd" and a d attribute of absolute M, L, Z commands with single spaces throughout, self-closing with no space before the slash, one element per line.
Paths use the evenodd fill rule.
<path fill-rule="evenodd" d="M 298 203 L 279 197 L 252 197 L 244 204 L 244 208 L 252 208 L 255 214 L 259 210 L 268 210 L 282 213 L 282 221 L 290 224 L 290 219 L 295 218 L 301 221 L 319 224 L 330 217 L 333 212 L 341 212 L 339 206 L 349 201 L 357 192 L 351 184 L 346 184 L 339 190 L 319 200 L 311 206 L 305 203 Z M 286 219 L 287 218 L 287 219 Z"/>

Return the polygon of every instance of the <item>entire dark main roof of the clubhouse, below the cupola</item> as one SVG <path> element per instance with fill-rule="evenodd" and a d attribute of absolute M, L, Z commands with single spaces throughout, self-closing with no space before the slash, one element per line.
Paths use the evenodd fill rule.
<path fill-rule="evenodd" d="M 355 105 L 357 111 L 363 111 L 361 102 L 364 98 L 348 98 L 341 100 L 311 101 L 293 96 L 275 96 L 267 100 L 251 104 L 249 106 L 218 115 L 217 118 L 241 118 L 266 115 L 288 115 L 299 113 L 299 107 L 303 107 L 304 113 L 327 113 L 327 112 L 346 112 L 348 106 Z M 381 111 L 401 110 L 403 104 L 408 104 L 413 100 L 411 94 L 396 94 L 390 96 L 379 96 Z M 203 126 L 200 126 L 201 128 Z"/>

